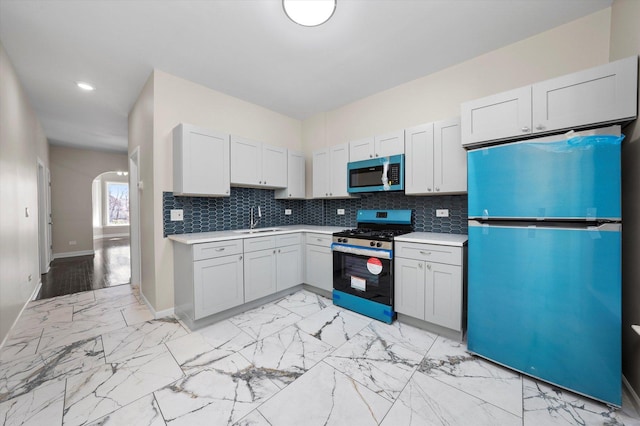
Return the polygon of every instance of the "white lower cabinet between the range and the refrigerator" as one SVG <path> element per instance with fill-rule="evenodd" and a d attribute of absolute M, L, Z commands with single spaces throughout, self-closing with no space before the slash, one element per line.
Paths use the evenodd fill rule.
<path fill-rule="evenodd" d="M 463 327 L 463 247 L 395 245 L 396 312 L 455 331 Z"/>

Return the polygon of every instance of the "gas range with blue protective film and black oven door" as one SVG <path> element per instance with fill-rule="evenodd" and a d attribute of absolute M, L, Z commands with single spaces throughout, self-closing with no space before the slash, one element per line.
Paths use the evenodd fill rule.
<path fill-rule="evenodd" d="M 356 229 L 333 234 L 333 303 L 391 323 L 393 238 L 411 231 L 411 210 L 358 210 Z"/>

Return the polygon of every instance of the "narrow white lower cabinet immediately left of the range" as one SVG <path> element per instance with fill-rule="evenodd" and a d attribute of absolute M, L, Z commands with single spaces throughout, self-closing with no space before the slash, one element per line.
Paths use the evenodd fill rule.
<path fill-rule="evenodd" d="M 306 284 L 333 291 L 331 235 L 307 233 L 305 244 Z"/>

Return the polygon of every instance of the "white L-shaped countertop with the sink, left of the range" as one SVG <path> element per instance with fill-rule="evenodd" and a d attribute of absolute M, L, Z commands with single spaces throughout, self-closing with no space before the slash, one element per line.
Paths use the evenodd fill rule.
<path fill-rule="evenodd" d="M 318 234 L 331 235 L 334 232 L 342 231 L 344 227 L 339 226 L 316 226 L 316 225 L 288 225 L 288 226 L 270 226 L 264 229 L 275 229 L 274 231 L 260 231 L 261 228 L 254 229 L 253 233 L 249 233 L 248 229 L 235 229 L 232 231 L 214 231 L 214 232 L 196 232 L 193 234 L 176 234 L 168 235 L 172 241 L 182 244 L 200 244 L 211 243 L 214 241 L 235 240 L 238 238 L 255 238 L 270 235 L 291 234 L 294 232 L 315 232 Z"/>

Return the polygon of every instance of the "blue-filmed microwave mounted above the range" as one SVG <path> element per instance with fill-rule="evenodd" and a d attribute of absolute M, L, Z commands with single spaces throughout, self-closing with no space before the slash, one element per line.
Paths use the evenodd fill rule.
<path fill-rule="evenodd" d="M 391 155 L 347 165 L 347 191 L 404 191 L 404 155 Z"/>

